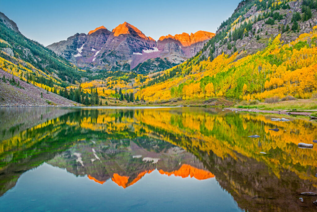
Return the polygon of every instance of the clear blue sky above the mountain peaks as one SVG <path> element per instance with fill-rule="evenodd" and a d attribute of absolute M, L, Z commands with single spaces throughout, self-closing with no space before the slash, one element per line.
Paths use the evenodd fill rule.
<path fill-rule="evenodd" d="M 112 30 L 128 22 L 146 36 L 198 30 L 216 32 L 241 0 L 2 0 L 0 11 L 16 22 L 26 37 L 47 46 L 75 33 L 104 25 Z"/>

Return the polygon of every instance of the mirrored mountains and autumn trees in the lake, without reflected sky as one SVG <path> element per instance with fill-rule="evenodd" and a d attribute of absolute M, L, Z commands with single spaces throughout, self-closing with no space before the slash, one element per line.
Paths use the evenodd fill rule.
<path fill-rule="evenodd" d="M 0 114 L 0 204 L 25 171 L 45 162 L 126 189 L 158 174 L 216 179 L 246 211 L 316 209 L 317 197 L 300 195 L 317 192 L 317 147 L 297 147 L 317 139 L 317 123 L 307 117 L 205 108 L 0 108 Z M 271 121 L 276 117 L 291 121 Z"/>

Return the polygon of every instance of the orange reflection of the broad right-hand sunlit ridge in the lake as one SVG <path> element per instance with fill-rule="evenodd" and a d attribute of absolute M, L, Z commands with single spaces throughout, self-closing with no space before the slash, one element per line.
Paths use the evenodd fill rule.
<path fill-rule="evenodd" d="M 211 177 L 215 177 L 211 172 L 205 171 L 203 169 L 197 169 L 195 167 L 192 167 L 191 165 L 183 164 L 178 170 L 167 172 L 163 171 L 162 169 L 159 170 L 159 173 L 162 175 L 174 175 L 174 176 L 181 176 L 182 178 L 191 176 L 196 178 L 197 180 L 205 180 L 209 179 Z"/>

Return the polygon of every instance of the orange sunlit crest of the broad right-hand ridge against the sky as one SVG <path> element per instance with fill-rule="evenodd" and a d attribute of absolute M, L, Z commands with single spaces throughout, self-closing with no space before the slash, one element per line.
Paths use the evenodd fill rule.
<path fill-rule="evenodd" d="M 194 43 L 209 40 L 215 35 L 216 35 L 215 33 L 206 32 L 206 31 L 197 31 L 195 33 L 191 33 L 191 35 L 183 32 L 182 34 L 176 34 L 175 36 L 172 36 L 172 35 L 161 36 L 159 38 L 159 41 L 163 41 L 164 39 L 171 38 L 173 40 L 179 41 L 183 46 L 190 46 Z"/>

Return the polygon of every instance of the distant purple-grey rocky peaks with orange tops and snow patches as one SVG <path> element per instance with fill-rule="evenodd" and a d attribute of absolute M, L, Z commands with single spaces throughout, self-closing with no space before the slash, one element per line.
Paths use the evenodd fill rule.
<path fill-rule="evenodd" d="M 102 70 L 129 71 L 136 68 L 139 73 L 163 70 L 194 56 L 214 33 L 198 31 L 175 36 L 162 36 L 159 41 L 147 37 L 138 28 L 124 22 L 112 31 L 100 26 L 85 33 L 77 33 L 48 46 L 57 55 L 78 67 Z M 161 58 L 163 65 L 147 63 Z M 166 59 L 165 59 L 166 58 Z M 153 60 L 154 59 L 154 60 Z M 142 64 L 146 61 L 146 64 Z M 141 65 L 140 65 L 141 64 Z M 140 70 L 141 66 L 141 70 Z"/>

